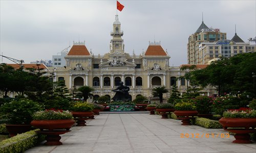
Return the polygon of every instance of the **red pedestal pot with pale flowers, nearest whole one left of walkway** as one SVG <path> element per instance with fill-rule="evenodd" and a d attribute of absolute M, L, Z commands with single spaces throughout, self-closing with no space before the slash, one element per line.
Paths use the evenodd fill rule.
<path fill-rule="evenodd" d="M 47 135 L 45 145 L 61 145 L 59 135 L 70 132 L 69 129 L 75 124 L 69 111 L 55 109 L 35 112 L 33 119 L 31 125 L 40 129 L 36 132 Z"/>

